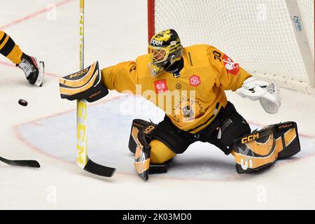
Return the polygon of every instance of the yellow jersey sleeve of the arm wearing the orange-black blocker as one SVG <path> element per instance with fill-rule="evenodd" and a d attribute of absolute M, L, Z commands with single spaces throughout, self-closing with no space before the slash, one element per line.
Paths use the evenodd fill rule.
<path fill-rule="evenodd" d="M 102 69 L 102 83 L 109 90 L 135 94 L 138 83 L 136 62 L 121 62 Z"/>

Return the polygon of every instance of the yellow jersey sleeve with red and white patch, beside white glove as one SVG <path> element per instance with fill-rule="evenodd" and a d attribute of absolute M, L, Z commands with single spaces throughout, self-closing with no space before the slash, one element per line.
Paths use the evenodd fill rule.
<path fill-rule="evenodd" d="M 235 91 L 243 85 L 244 80 L 251 77 L 251 74 L 242 69 L 228 55 L 211 46 L 211 64 L 218 73 L 217 85 L 224 90 Z"/>

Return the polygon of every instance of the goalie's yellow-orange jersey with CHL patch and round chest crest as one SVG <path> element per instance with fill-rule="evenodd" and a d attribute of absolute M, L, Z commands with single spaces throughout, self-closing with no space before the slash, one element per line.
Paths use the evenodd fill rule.
<path fill-rule="evenodd" d="M 165 111 L 181 130 L 196 133 L 207 127 L 227 104 L 224 90 L 235 91 L 251 76 L 211 45 L 183 48 L 184 66 L 178 75 L 164 71 L 152 76 L 151 57 L 102 69 L 109 90 L 140 94 Z"/>

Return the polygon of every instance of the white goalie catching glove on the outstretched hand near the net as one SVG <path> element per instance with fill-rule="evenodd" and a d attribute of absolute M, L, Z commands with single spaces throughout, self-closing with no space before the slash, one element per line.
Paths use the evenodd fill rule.
<path fill-rule="evenodd" d="M 241 97 L 258 100 L 267 113 L 276 113 L 281 105 L 279 87 L 269 84 L 254 77 L 247 78 L 243 85 L 237 89 L 237 94 Z"/>

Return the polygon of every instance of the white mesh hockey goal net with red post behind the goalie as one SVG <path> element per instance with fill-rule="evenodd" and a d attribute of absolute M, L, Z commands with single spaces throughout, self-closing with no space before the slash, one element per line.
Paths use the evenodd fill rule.
<path fill-rule="evenodd" d="M 214 45 L 253 76 L 315 94 L 314 0 L 148 0 L 148 38 L 170 28 L 184 46 Z"/>

